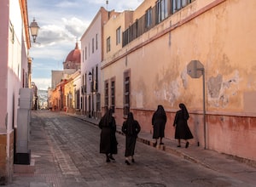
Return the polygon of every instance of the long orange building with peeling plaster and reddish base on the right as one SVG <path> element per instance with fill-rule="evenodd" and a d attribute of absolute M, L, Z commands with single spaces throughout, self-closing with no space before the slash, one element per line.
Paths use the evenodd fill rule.
<path fill-rule="evenodd" d="M 192 144 L 256 161 L 255 7 L 243 0 L 144 1 L 125 26 L 122 48 L 104 54 L 102 84 L 115 81 L 102 87 L 102 107 L 114 97 L 119 125 L 132 111 L 143 131 L 152 132 L 152 114 L 163 105 L 166 138 L 173 139 L 175 112 L 184 103 Z M 104 29 L 104 51 L 108 32 L 118 29 L 115 20 Z M 204 77 L 189 76 L 191 60 L 201 62 Z"/>

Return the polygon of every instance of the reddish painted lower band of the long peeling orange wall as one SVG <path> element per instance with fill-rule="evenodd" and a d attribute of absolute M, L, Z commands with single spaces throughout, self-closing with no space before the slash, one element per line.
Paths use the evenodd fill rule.
<path fill-rule="evenodd" d="M 142 131 L 153 133 L 151 119 L 154 111 L 131 109 L 135 119 L 140 123 Z M 174 139 L 175 128 L 172 126 L 175 111 L 167 111 L 167 122 L 165 138 Z M 114 113 L 117 125 L 121 126 L 125 119 L 123 110 L 115 109 Z M 197 112 L 189 112 L 189 128 L 194 139 L 189 143 L 206 147 L 209 150 L 216 150 L 237 160 L 255 165 L 256 162 L 256 117 L 207 114 L 206 134 L 204 133 L 203 115 Z M 206 135 L 206 139 L 205 139 Z"/>

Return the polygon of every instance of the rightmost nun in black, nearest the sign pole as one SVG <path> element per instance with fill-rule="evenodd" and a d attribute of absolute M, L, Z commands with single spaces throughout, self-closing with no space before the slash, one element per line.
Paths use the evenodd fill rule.
<path fill-rule="evenodd" d="M 189 120 L 189 112 L 183 103 L 179 104 L 178 106 L 181 110 L 176 112 L 176 116 L 173 122 L 173 127 L 175 127 L 175 139 L 177 139 L 177 147 L 181 147 L 180 139 L 185 139 L 186 148 L 188 148 L 188 139 L 194 138 L 187 122 Z"/>

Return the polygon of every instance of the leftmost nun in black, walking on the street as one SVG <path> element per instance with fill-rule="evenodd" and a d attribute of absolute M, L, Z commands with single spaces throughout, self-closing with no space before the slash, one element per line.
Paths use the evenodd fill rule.
<path fill-rule="evenodd" d="M 102 129 L 100 141 L 100 153 L 106 155 L 106 161 L 114 161 L 113 154 L 117 154 L 117 139 L 115 136 L 116 123 L 113 117 L 113 110 L 109 109 L 102 116 L 99 122 L 99 127 Z"/>

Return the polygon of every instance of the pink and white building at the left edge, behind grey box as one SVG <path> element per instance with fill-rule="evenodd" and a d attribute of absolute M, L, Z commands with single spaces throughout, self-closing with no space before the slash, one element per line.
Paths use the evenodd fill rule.
<path fill-rule="evenodd" d="M 19 89 L 31 88 L 31 48 L 26 0 L 0 1 L 0 185 L 14 173 Z"/>

